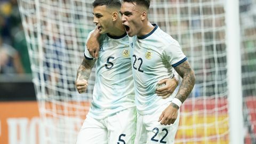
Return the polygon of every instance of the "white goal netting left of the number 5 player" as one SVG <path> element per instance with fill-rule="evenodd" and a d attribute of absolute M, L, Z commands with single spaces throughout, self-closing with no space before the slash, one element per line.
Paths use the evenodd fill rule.
<path fill-rule="evenodd" d="M 87 93 L 77 93 L 75 79 L 94 28 L 91 7 L 82 1 L 19 1 L 45 143 L 75 143 L 89 108 L 94 69 Z"/>

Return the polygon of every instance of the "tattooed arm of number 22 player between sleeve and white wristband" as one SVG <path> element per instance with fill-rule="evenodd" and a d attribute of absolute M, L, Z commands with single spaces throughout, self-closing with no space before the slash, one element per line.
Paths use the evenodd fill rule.
<path fill-rule="evenodd" d="M 174 67 L 174 69 L 183 78 L 180 84 L 179 91 L 175 98 L 179 99 L 183 103 L 187 99 L 188 95 L 190 94 L 195 85 L 195 73 L 191 69 L 187 60 L 185 62 L 182 62 L 179 66 Z"/>

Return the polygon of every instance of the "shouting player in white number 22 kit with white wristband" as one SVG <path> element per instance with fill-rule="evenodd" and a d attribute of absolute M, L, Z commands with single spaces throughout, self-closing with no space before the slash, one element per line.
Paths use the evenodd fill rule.
<path fill-rule="evenodd" d="M 120 13 L 129 35 L 137 107 L 135 143 L 174 143 L 179 107 L 195 85 L 195 74 L 180 45 L 148 20 L 150 0 L 123 0 Z M 157 97 L 154 84 L 172 77 L 183 78 L 177 94 Z M 174 97 L 175 96 L 175 97 Z"/>

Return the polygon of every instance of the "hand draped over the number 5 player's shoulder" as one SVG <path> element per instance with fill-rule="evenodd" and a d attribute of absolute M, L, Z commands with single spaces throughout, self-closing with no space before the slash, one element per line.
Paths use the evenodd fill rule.
<path fill-rule="evenodd" d="M 100 44 L 98 41 L 99 36 L 100 36 L 99 30 L 98 28 L 96 28 L 86 43 L 86 47 L 90 55 L 92 55 L 92 57 L 96 59 L 98 59 L 99 57 L 99 49 L 100 49 Z"/>

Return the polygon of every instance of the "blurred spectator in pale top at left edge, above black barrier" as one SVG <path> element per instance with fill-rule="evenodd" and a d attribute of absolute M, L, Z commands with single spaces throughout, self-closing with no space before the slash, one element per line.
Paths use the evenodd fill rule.
<path fill-rule="evenodd" d="M 0 37 L 0 73 L 23 73 L 18 51 L 13 49 L 12 46 L 3 43 L 2 37 Z"/>

